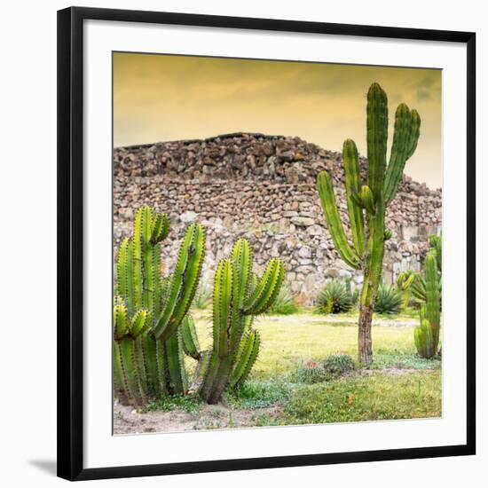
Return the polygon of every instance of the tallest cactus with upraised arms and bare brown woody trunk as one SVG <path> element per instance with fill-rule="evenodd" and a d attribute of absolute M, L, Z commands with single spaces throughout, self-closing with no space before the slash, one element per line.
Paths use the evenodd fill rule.
<path fill-rule="evenodd" d="M 404 103 L 397 107 L 387 166 L 388 99 L 378 83 L 371 85 L 366 106 L 367 185 L 362 185 L 354 141 L 347 139 L 342 148 L 352 246 L 337 209 L 332 177 L 327 171 L 322 171 L 318 177 L 320 201 L 335 249 L 346 264 L 364 273 L 358 322 L 358 359 L 363 364 L 373 360 L 374 301 L 382 278 L 384 243 L 391 237 L 385 227 L 386 209 L 395 198 L 405 162 L 417 147 L 420 126 L 421 118 L 416 110 L 410 110 Z"/>

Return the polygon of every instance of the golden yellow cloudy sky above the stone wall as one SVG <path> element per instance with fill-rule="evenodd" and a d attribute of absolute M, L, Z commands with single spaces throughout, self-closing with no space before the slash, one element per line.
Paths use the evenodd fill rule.
<path fill-rule="evenodd" d="M 441 71 L 252 59 L 114 53 L 114 146 L 229 132 L 298 136 L 366 154 L 366 92 L 387 92 L 390 141 L 400 102 L 421 114 L 421 138 L 405 173 L 442 186 Z"/>

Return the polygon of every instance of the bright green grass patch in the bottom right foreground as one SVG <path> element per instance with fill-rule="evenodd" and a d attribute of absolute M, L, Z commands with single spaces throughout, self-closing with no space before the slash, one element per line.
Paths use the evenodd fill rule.
<path fill-rule="evenodd" d="M 381 421 L 439 417 L 440 371 L 374 373 L 307 385 L 295 390 L 283 424 Z"/>

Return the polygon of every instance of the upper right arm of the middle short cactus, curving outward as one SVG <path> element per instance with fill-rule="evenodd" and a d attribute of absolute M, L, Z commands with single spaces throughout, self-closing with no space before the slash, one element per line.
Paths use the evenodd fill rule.
<path fill-rule="evenodd" d="M 279 288 L 285 278 L 285 265 L 278 258 L 272 258 L 263 273 L 263 278 L 257 284 L 256 290 L 251 295 L 242 312 L 245 315 L 258 315 L 266 311 L 276 300 Z"/>

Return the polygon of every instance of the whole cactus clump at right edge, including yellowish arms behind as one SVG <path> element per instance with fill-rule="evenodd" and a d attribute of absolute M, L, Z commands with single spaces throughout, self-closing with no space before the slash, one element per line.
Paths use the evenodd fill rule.
<path fill-rule="evenodd" d="M 433 358 L 439 347 L 442 294 L 442 237 L 430 236 L 430 250 L 425 257 L 423 276 L 415 274 L 413 296 L 421 302 L 421 324 L 415 327 L 414 341 L 422 358 Z"/>

